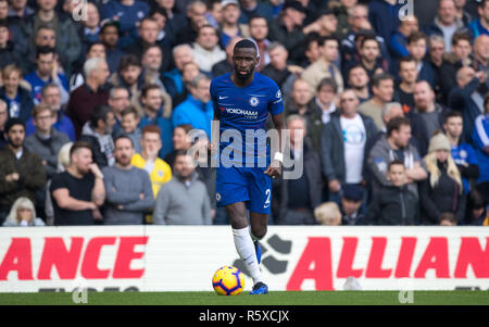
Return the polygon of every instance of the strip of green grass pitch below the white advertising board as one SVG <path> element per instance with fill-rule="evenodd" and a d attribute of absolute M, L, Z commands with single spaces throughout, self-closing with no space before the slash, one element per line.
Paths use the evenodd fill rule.
<path fill-rule="evenodd" d="M 88 305 L 488 305 L 489 291 L 414 291 L 402 304 L 398 291 L 273 291 L 251 297 L 214 292 L 88 292 Z M 75 304 L 70 292 L 0 293 L 0 305 Z"/>

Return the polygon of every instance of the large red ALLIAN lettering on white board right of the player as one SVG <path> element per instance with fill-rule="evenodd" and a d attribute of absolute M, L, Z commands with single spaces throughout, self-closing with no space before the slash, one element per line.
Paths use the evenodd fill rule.
<path fill-rule="evenodd" d="M 449 256 L 448 237 L 430 237 L 423 249 L 417 249 L 416 237 L 402 237 L 401 246 L 390 266 L 385 260 L 387 237 L 372 237 L 372 246 L 365 266 L 355 266 L 359 237 L 343 237 L 336 268 L 333 264 L 331 241 L 328 237 L 309 237 L 308 243 L 292 269 L 287 290 L 301 290 L 304 280 L 314 280 L 316 290 L 334 290 L 334 278 L 414 278 L 425 279 L 434 273 L 437 279 L 466 279 L 472 269 L 475 278 L 489 278 L 489 237 L 486 246 L 478 237 L 461 237 L 456 256 Z M 450 249 L 453 254 L 453 248 Z M 414 262 L 415 251 L 422 251 Z M 454 267 L 451 269 L 450 267 Z"/>

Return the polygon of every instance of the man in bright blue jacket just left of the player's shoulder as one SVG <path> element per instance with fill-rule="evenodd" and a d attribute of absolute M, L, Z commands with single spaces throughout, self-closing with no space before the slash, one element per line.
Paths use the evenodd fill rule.
<path fill-rule="evenodd" d="M 211 121 L 214 116 L 209 87 L 211 80 L 203 74 L 197 75 L 190 83 L 190 95 L 187 100 L 175 108 L 173 126 L 190 124 L 193 128 L 203 129 L 211 138 Z"/>

